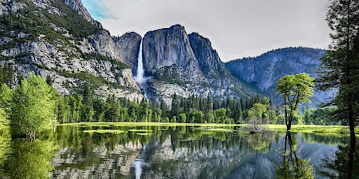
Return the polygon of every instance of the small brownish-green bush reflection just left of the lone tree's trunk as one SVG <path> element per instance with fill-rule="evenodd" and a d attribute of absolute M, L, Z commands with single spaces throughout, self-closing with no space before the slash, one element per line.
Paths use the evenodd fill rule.
<path fill-rule="evenodd" d="M 273 133 L 256 133 L 248 137 L 248 143 L 253 150 L 262 150 L 263 153 L 267 153 L 273 138 Z"/>

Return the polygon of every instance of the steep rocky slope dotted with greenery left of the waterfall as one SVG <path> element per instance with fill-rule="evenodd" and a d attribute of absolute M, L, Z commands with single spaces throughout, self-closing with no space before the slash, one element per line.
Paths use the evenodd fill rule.
<path fill-rule="evenodd" d="M 81 92 L 88 84 L 98 96 L 142 98 L 124 64 L 137 65 L 140 35 L 112 37 L 80 0 L 1 0 L 0 15 L 1 65 L 12 64 L 22 76 L 29 71 L 50 76 L 61 94 Z"/>

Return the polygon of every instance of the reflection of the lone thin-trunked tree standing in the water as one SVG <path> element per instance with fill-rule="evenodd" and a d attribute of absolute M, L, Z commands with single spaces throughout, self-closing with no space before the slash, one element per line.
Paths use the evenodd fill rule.
<path fill-rule="evenodd" d="M 293 144 L 292 136 L 288 131 L 285 136 L 283 165 L 276 168 L 277 178 L 314 178 L 313 166 L 309 164 L 310 160 L 299 159 L 295 150 L 296 145 Z"/>

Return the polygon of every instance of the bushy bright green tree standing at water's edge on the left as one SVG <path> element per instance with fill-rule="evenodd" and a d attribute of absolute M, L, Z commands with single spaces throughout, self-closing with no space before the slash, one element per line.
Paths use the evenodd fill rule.
<path fill-rule="evenodd" d="M 53 92 L 46 80 L 34 72 L 17 85 L 11 100 L 10 129 L 14 136 L 34 138 L 55 120 Z"/>

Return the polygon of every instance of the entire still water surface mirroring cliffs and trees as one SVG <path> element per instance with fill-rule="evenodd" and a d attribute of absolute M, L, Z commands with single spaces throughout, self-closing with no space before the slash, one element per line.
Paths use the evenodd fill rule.
<path fill-rule="evenodd" d="M 348 178 L 348 137 L 145 126 L 57 127 L 36 141 L 0 134 L 9 178 Z"/>

